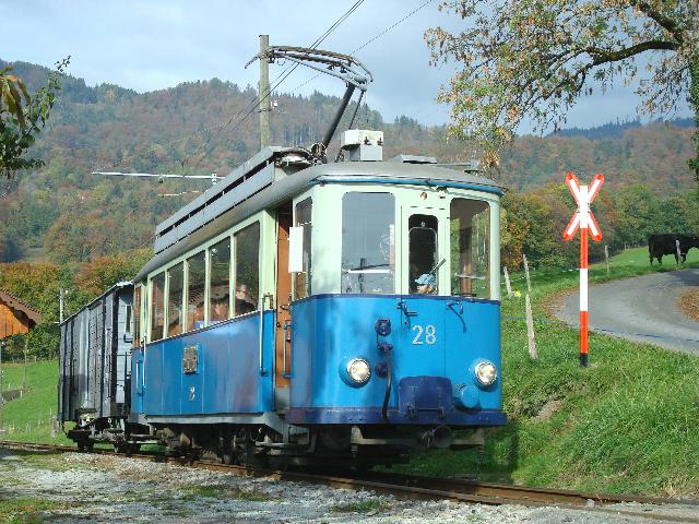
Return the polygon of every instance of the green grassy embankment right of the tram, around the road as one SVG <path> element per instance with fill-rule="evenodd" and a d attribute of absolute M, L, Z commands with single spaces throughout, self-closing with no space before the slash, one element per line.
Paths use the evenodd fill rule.
<path fill-rule="evenodd" d="M 671 262 L 672 261 L 672 262 Z M 644 248 L 590 270 L 591 282 L 654 271 Z M 685 267 L 699 267 L 692 250 Z M 521 275 L 513 275 L 517 279 Z M 579 366 L 578 330 L 552 321 L 546 305 L 578 285 L 577 272 L 533 272 L 538 359 L 528 355 L 524 298 L 502 299 L 503 401 L 509 422 L 487 433 L 485 453 L 430 452 L 406 471 L 532 486 L 699 496 L 699 358 L 596 333 Z M 514 286 L 524 293 L 526 285 Z M 506 295 L 503 294 L 506 297 Z M 698 334 L 699 335 L 699 334 Z"/>

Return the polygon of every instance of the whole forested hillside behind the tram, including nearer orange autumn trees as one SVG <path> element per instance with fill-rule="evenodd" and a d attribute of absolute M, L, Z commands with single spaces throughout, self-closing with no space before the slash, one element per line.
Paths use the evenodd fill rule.
<path fill-rule="evenodd" d="M 23 62 L 14 64 L 14 72 L 29 91 L 48 74 L 46 68 Z M 227 175 L 259 148 L 250 86 L 213 79 L 138 94 L 117 85 L 91 87 L 69 76 L 62 87 L 33 151 L 46 166 L 0 181 L 0 288 L 44 313 L 44 324 L 29 335 L 31 350 L 44 356 L 57 341 L 59 287 L 70 289 L 70 313 L 114 282 L 131 277 L 150 257 L 154 226 L 209 183 L 161 184 L 91 171 Z M 320 93 L 275 93 L 272 99 L 273 143 L 305 146 L 320 140 L 340 102 Z M 517 139 L 499 168 L 487 172 L 508 188 L 503 264 L 513 269 L 526 253 L 533 265 L 577 266 L 578 248 L 564 243 L 560 235 L 573 211 L 562 184 L 569 169 L 582 179 L 604 172 L 606 184 L 594 207 L 612 252 L 641 243 L 653 231 L 699 234 L 696 186 L 686 164 L 692 129 L 678 123 L 625 122 Z M 448 139 L 446 127 L 425 127 L 408 116 L 386 122 L 363 106 L 357 126 L 384 131 L 386 158 L 406 153 L 459 162 L 477 154 L 472 145 Z M 602 250 L 595 245 L 591 255 Z M 23 347 L 19 337 L 10 355 L 21 355 Z"/>

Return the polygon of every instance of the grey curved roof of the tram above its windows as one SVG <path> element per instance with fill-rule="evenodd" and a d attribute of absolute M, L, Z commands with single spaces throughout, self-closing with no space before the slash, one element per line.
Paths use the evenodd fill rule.
<path fill-rule="evenodd" d="M 141 269 L 134 282 L 145 278 L 152 271 L 229 229 L 246 217 L 264 209 L 276 207 L 284 202 L 288 202 L 311 186 L 323 182 L 441 186 L 466 188 L 496 194 L 503 193 L 502 186 L 494 180 L 479 177 L 474 172 L 464 172 L 450 168 L 448 165 L 412 164 L 400 159 L 317 164 L 274 181 L 269 187 L 232 206 L 185 238 L 156 253 Z"/>

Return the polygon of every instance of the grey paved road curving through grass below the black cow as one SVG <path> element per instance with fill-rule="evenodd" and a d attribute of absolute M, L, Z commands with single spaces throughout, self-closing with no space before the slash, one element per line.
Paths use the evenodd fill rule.
<path fill-rule="evenodd" d="M 699 322 L 687 319 L 677 308 L 677 299 L 691 286 L 699 286 L 699 270 L 654 273 L 592 286 L 590 329 L 699 355 Z M 556 309 L 560 320 L 580 325 L 577 291 Z"/>

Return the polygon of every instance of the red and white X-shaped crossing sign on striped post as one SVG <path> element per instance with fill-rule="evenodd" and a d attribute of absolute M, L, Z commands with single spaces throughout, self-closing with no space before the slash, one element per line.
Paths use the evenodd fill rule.
<path fill-rule="evenodd" d="M 580 229 L 580 366 L 582 367 L 588 366 L 588 235 L 595 242 L 602 240 L 602 231 L 590 211 L 590 204 L 603 183 L 604 175 L 595 175 L 589 187 L 580 186 L 578 177 L 572 172 L 566 175 L 566 184 L 572 198 L 576 199 L 578 211 L 564 231 L 564 240 L 571 240 Z"/>

